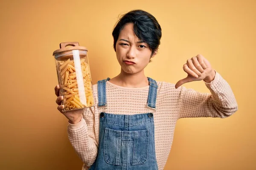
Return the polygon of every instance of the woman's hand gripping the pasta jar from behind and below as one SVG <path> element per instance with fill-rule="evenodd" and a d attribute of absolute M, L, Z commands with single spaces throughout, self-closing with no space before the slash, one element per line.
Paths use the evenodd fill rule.
<path fill-rule="evenodd" d="M 76 110 L 76 111 L 68 111 L 68 112 L 63 112 L 62 110 L 64 109 L 64 105 L 61 105 L 61 101 L 63 100 L 63 96 L 60 96 L 60 86 L 56 85 L 55 88 L 55 94 L 57 96 L 56 103 L 58 104 L 58 110 L 64 114 L 64 116 L 67 117 L 69 122 L 71 124 L 76 124 L 81 121 L 82 119 L 82 113 L 84 112 L 84 109 Z"/>

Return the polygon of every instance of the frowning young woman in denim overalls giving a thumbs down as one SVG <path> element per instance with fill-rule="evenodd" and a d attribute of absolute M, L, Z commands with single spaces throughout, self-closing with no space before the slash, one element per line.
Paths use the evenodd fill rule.
<path fill-rule="evenodd" d="M 161 27 L 148 12 L 123 15 L 112 35 L 120 74 L 93 85 L 95 107 L 61 112 L 69 119 L 68 137 L 83 170 L 163 170 L 178 119 L 225 118 L 237 111 L 230 86 L 200 54 L 186 61 L 188 76 L 176 85 L 145 76 L 161 38 Z M 198 80 L 211 94 L 181 86 Z M 58 91 L 57 85 L 57 96 Z M 59 111 L 62 99 L 56 99 Z"/>

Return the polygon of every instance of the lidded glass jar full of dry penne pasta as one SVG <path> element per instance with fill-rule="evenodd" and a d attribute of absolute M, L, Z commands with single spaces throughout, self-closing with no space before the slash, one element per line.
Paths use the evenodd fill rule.
<path fill-rule="evenodd" d="M 63 111 L 74 111 L 94 106 L 92 79 L 87 57 L 87 48 L 79 42 L 62 42 L 55 57 L 61 104 Z"/>

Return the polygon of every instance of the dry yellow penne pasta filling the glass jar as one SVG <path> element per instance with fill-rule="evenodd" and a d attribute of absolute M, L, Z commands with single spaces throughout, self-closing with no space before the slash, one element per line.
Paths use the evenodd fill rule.
<path fill-rule="evenodd" d="M 91 107 L 94 105 L 93 90 L 91 84 L 91 77 L 89 71 L 89 65 L 85 62 L 85 59 L 80 59 L 82 82 L 84 83 L 84 93 L 86 97 L 86 103 L 82 103 L 79 97 L 78 82 L 76 79 L 76 67 L 73 60 L 57 62 L 58 80 L 60 83 L 60 94 L 64 96 L 62 104 L 65 106 L 64 111 L 70 111 L 79 108 Z M 80 91 L 81 93 L 81 91 Z"/>

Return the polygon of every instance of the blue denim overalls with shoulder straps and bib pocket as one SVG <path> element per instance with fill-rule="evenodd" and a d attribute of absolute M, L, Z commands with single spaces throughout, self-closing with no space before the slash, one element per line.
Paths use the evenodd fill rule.
<path fill-rule="evenodd" d="M 98 107 L 107 106 L 106 81 L 98 81 Z M 156 110 L 157 82 L 148 77 L 146 107 Z M 158 170 L 153 113 L 120 115 L 102 112 L 99 150 L 89 170 Z"/>

